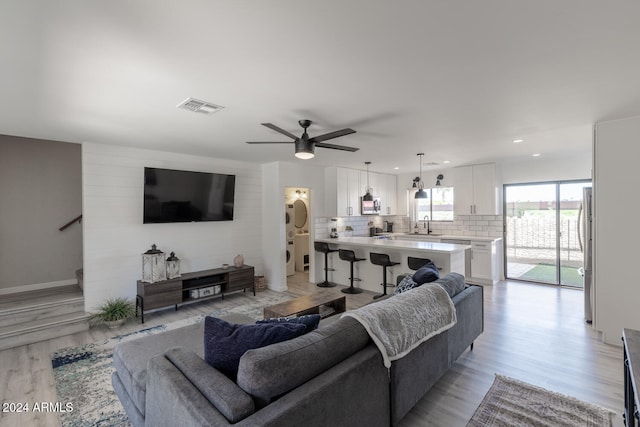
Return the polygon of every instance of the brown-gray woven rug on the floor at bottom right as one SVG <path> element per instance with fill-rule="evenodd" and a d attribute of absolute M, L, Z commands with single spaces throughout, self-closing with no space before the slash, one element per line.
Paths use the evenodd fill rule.
<path fill-rule="evenodd" d="M 591 403 L 496 375 L 467 427 L 605 427 L 611 426 L 612 415 Z"/>

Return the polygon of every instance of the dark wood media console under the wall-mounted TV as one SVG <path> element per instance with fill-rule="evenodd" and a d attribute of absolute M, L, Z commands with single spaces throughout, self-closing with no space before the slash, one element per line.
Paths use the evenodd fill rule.
<path fill-rule="evenodd" d="M 187 304 L 202 301 L 209 298 L 221 297 L 237 291 L 246 291 L 247 288 L 256 294 L 254 269 L 250 265 L 242 267 L 214 268 L 211 270 L 194 271 L 185 273 L 175 279 L 163 280 L 156 283 L 137 282 L 136 317 L 138 307 L 140 318 L 144 323 L 144 312 L 161 307 Z M 204 296 L 195 297 L 195 294 Z"/>

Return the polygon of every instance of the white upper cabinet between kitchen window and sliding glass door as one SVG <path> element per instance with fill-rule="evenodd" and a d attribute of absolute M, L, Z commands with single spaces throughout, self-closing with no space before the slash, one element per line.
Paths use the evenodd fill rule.
<path fill-rule="evenodd" d="M 498 215 L 496 165 L 453 168 L 454 211 L 456 215 Z"/>

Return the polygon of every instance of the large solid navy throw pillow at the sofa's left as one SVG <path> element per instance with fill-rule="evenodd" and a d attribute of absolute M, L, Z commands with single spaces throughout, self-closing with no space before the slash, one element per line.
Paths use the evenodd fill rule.
<path fill-rule="evenodd" d="M 307 332 L 303 324 L 236 325 L 217 317 L 204 319 L 204 360 L 235 380 L 240 358 L 254 348 L 287 341 Z"/>

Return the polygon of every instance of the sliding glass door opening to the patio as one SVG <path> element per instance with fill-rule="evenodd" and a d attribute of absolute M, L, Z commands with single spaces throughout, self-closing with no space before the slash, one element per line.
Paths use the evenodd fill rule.
<path fill-rule="evenodd" d="M 505 276 L 582 287 L 578 212 L 591 181 L 504 186 Z"/>

